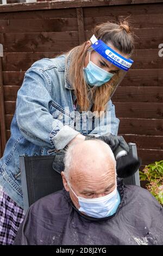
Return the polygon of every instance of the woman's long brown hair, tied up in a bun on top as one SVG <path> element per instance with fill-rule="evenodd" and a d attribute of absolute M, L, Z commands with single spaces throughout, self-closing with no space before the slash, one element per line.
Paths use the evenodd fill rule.
<path fill-rule="evenodd" d="M 128 57 L 134 51 L 134 37 L 130 31 L 128 21 L 123 20 L 117 23 L 105 22 L 97 25 L 93 29 L 97 39 L 101 39 L 105 44 L 114 46 L 120 52 L 127 54 Z M 77 102 L 80 106 L 80 111 L 87 111 L 90 101 L 87 96 L 88 87 L 84 80 L 83 66 L 87 51 L 93 50 L 91 47 L 86 47 L 86 42 L 82 45 L 74 47 L 68 53 L 71 53 L 70 74 L 69 79 L 74 88 L 74 93 L 77 96 Z M 67 53 L 67 54 L 68 54 Z M 93 109 L 99 113 L 105 111 L 106 103 L 110 99 L 112 90 L 114 90 L 117 80 L 120 78 L 122 72 L 119 70 L 109 82 L 106 82 L 101 87 L 92 87 L 91 96 L 93 100 Z M 100 113 L 99 113 L 100 114 Z"/>

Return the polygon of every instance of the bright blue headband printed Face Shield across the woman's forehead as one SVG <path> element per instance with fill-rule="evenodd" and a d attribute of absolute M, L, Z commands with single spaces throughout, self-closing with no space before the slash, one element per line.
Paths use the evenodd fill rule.
<path fill-rule="evenodd" d="M 98 52 L 106 60 L 109 60 L 112 64 L 118 68 L 128 71 L 130 66 L 133 64 L 132 59 L 126 59 L 121 54 L 112 50 L 108 45 L 106 45 L 102 40 L 97 40 L 95 35 L 92 35 L 90 41 L 92 42 L 91 47 L 93 50 Z"/>

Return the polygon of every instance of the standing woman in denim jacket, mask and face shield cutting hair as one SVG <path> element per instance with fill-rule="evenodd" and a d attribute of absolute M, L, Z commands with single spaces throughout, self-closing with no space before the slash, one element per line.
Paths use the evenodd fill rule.
<path fill-rule="evenodd" d="M 106 22 L 95 27 L 91 40 L 27 70 L 0 160 L 0 244 L 13 243 L 24 217 L 20 155 L 55 154 L 87 134 L 117 135 L 110 97 L 133 62 L 133 50 L 128 22 Z"/>

